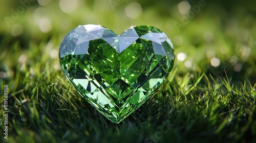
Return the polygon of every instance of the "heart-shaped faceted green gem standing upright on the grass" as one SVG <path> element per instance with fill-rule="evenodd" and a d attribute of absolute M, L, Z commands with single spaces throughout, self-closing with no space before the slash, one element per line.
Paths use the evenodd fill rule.
<path fill-rule="evenodd" d="M 173 44 L 151 26 L 121 35 L 99 25 L 73 29 L 59 60 L 69 82 L 101 114 L 119 123 L 145 103 L 174 64 Z"/>

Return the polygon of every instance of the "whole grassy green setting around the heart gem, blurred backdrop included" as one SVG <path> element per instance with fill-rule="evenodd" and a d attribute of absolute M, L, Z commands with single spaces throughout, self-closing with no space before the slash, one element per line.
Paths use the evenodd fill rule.
<path fill-rule="evenodd" d="M 8 85 L 10 111 L 10 139 L 5 140 L 1 130 L 3 141 L 256 141 L 255 1 L 0 4 L 0 101 Z M 199 5 L 204 6 L 195 11 Z M 131 26 L 151 25 L 174 43 L 175 66 L 161 92 L 119 125 L 77 97 L 59 66 L 62 38 L 86 24 L 117 34 Z M 166 123 L 172 129 L 163 133 Z"/>

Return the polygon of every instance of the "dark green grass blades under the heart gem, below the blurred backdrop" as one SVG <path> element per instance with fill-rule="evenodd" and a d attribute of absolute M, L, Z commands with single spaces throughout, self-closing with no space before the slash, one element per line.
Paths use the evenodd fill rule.
<path fill-rule="evenodd" d="M 1 133 L 3 141 L 256 142 L 256 85 L 248 80 L 235 86 L 209 74 L 179 77 L 176 68 L 158 94 L 114 124 L 80 98 L 60 70 L 48 68 L 35 70 L 33 77 L 25 71 L 1 81 L 2 89 L 15 85 L 8 99 L 8 140 Z"/>

